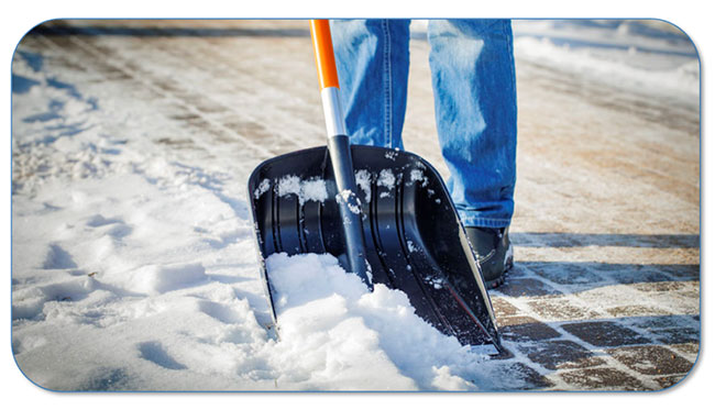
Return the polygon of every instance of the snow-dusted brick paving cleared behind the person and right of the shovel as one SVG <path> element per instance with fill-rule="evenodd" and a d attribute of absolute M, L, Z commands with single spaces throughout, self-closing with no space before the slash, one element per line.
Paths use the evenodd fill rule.
<path fill-rule="evenodd" d="M 262 159 L 322 144 L 305 22 L 74 26 L 100 24 L 42 31 L 22 46 L 54 56 L 78 81 L 152 100 L 157 115 L 202 135 L 158 133 L 157 144 L 231 156 L 245 164 L 238 180 Z M 405 145 L 447 177 L 427 53 L 413 41 Z M 698 101 L 609 88 L 518 49 L 517 80 L 516 266 L 492 292 L 513 353 L 505 366 L 528 389 L 672 386 L 700 346 Z"/>

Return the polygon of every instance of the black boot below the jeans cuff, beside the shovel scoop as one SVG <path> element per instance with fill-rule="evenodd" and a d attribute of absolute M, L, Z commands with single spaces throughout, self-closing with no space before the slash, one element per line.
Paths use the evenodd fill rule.
<path fill-rule="evenodd" d="M 465 226 L 465 231 L 482 267 L 486 287 L 493 289 L 504 284 L 504 274 L 514 266 L 508 226 Z"/>

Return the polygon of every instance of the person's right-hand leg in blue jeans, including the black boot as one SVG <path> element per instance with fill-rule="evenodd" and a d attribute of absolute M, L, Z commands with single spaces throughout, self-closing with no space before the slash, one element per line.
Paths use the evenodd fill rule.
<path fill-rule="evenodd" d="M 512 266 L 516 76 L 508 20 L 429 22 L 437 128 L 452 200 L 490 286 Z"/>

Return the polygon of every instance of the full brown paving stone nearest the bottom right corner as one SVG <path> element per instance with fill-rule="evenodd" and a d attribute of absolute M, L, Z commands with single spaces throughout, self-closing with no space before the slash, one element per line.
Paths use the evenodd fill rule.
<path fill-rule="evenodd" d="M 688 373 L 693 364 L 662 346 L 630 346 L 606 351 L 618 362 L 644 375 Z"/>

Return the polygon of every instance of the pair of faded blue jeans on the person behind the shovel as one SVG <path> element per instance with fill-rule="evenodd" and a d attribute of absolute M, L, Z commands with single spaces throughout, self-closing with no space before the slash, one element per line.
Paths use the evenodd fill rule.
<path fill-rule="evenodd" d="M 334 20 L 353 144 L 403 149 L 409 20 Z M 516 182 L 516 77 L 508 20 L 430 20 L 429 64 L 448 189 L 465 226 L 508 226 Z"/>

